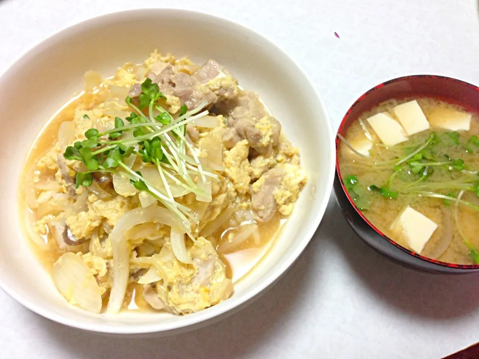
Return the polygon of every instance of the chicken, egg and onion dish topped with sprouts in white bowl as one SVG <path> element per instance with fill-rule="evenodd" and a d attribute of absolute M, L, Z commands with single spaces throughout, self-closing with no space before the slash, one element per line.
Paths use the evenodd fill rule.
<path fill-rule="evenodd" d="M 230 297 L 307 181 L 258 96 L 213 60 L 153 52 L 49 121 L 21 183 L 25 227 L 72 304 L 188 314 Z"/>

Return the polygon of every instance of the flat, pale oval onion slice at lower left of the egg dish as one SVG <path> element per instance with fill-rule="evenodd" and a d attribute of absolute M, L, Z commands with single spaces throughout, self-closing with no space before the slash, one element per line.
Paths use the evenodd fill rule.
<path fill-rule="evenodd" d="M 100 313 L 101 290 L 86 263 L 73 253 L 63 254 L 53 264 L 53 282 L 72 305 Z"/>

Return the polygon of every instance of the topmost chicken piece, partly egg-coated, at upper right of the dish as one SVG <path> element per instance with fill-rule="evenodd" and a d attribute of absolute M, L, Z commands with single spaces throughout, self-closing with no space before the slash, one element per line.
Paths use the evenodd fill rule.
<path fill-rule="evenodd" d="M 217 102 L 234 99 L 240 92 L 237 79 L 214 60 L 208 60 L 193 76 L 218 96 Z"/>

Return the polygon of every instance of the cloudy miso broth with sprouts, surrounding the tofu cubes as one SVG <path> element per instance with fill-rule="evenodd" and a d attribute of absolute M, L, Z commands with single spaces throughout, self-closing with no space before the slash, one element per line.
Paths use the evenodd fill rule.
<path fill-rule="evenodd" d="M 475 248 L 479 247 L 476 235 L 479 224 L 479 143 L 475 142 L 474 136 L 479 135 L 479 117 L 471 113 L 469 131 L 454 132 L 433 127 L 411 135 L 405 142 L 385 146 L 366 119 L 386 112 L 397 120 L 393 108 L 412 100 L 417 100 L 428 120 L 446 117 L 451 111 L 466 112 L 459 106 L 432 98 L 391 99 L 379 104 L 361 114 L 345 136 L 354 148 L 366 141 L 366 129 L 373 139 L 369 159 L 353 153 L 342 142 L 338 151 L 341 177 L 345 181 L 351 179 L 349 176 L 357 178 L 354 184 L 357 192 L 352 187 L 348 189 L 351 197 L 355 197 L 364 216 L 398 244 L 412 249 L 396 226 L 396 219 L 410 206 L 438 225 L 420 252 L 421 255 L 448 263 L 475 264 L 478 259 L 476 256 L 474 260 Z M 435 140 L 419 152 L 417 160 L 411 158 L 398 164 L 401 159 L 424 146 L 431 136 Z M 420 169 L 419 173 L 414 172 L 415 167 Z M 467 205 L 461 202 L 456 206 L 455 198 L 460 194 L 460 199 Z M 451 196 L 451 200 L 444 196 Z"/>

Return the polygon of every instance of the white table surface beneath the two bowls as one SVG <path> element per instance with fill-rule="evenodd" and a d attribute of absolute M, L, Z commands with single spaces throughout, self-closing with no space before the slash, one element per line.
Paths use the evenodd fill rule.
<path fill-rule="evenodd" d="M 335 129 L 360 94 L 389 78 L 479 83 L 477 0 L 3 0 L 0 72 L 75 22 L 155 6 L 210 12 L 267 36 L 309 74 Z M 291 270 L 226 320 L 175 337 L 104 338 L 50 322 L 0 291 L 0 357 L 440 358 L 479 341 L 478 307 L 479 276 L 400 267 L 361 242 L 331 197 Z"/>

